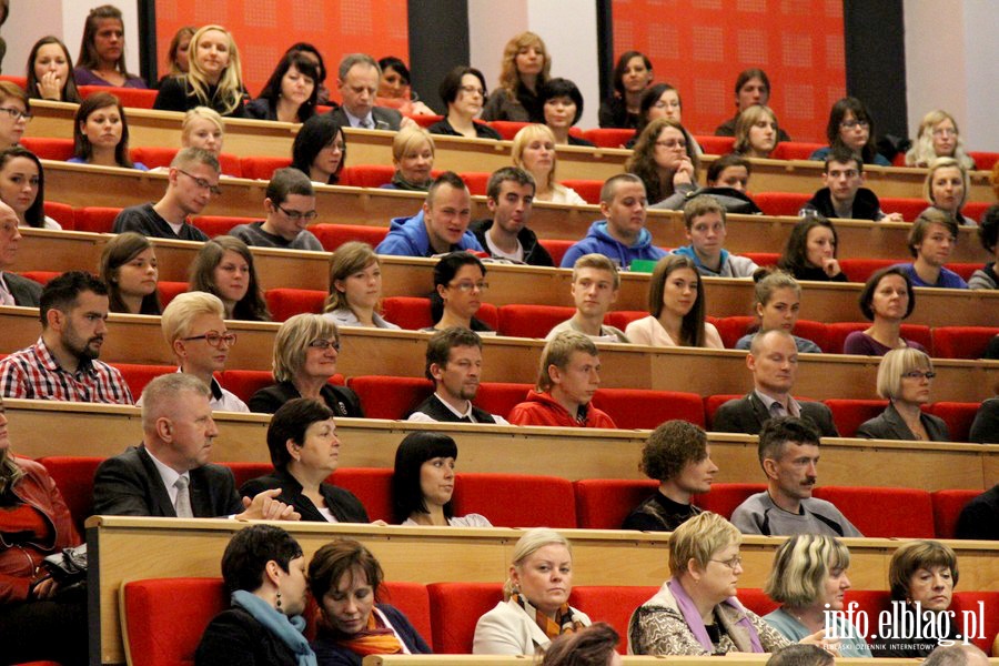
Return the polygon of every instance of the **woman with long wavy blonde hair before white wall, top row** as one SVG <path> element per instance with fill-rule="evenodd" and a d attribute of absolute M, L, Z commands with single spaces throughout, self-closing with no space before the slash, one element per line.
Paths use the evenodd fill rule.
<path fill-rule="evenodd" d="M 500 85 L 486 101 L 482 119 L 545 122 L 538 92 L 551 71 L 552 59 L 542 38 L 531 31 L 515 34 L 503 49 Z"/>

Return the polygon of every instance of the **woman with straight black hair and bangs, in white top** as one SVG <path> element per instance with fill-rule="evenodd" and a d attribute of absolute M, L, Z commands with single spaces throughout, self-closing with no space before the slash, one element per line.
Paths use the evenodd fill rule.
<path fill-rule="evenodd" d="M 492 527 L 480 514 L 454 515 L 457 445 L 444 433 L 416 431 L 395 450 L 392 508 L 400 525 Z"/>

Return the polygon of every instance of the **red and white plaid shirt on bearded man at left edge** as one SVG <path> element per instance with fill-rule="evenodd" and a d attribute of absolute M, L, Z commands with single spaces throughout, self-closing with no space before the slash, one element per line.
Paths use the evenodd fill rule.
<path fill-rule="evenodd" d="M 41 337 L 32 346 L 0 361 L 3 397 L 130 405 L 132 392 L 118 370 L 100 361 L 80 360 L 75 373 L 59 366 Z"/>

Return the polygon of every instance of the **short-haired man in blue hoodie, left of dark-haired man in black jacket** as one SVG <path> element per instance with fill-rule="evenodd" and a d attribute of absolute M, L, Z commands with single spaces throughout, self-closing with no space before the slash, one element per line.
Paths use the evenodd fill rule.
<path fill-rule="evenodd" d="M 472 220 L 472 195 L 462 178 L 445 171 L 426 192 L 423 210 L 412 218 L 395 218 L 389 235 L 375 252 L 396 256 L 434 256 L 474 250 L 482 245 L 468 231 Z"/>

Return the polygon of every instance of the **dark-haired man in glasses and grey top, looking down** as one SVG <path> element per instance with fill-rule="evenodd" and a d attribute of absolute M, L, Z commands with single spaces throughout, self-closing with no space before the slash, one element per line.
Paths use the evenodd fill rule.
<path fill-rule="evenodd" d="M 268 183 L 263 222 L 240 224 L 229 232 L 248 245 L 322 252 L 323 245 L 305 226 L 315 220 L 315 190 L 297 169 L 279 169 Z"/>

